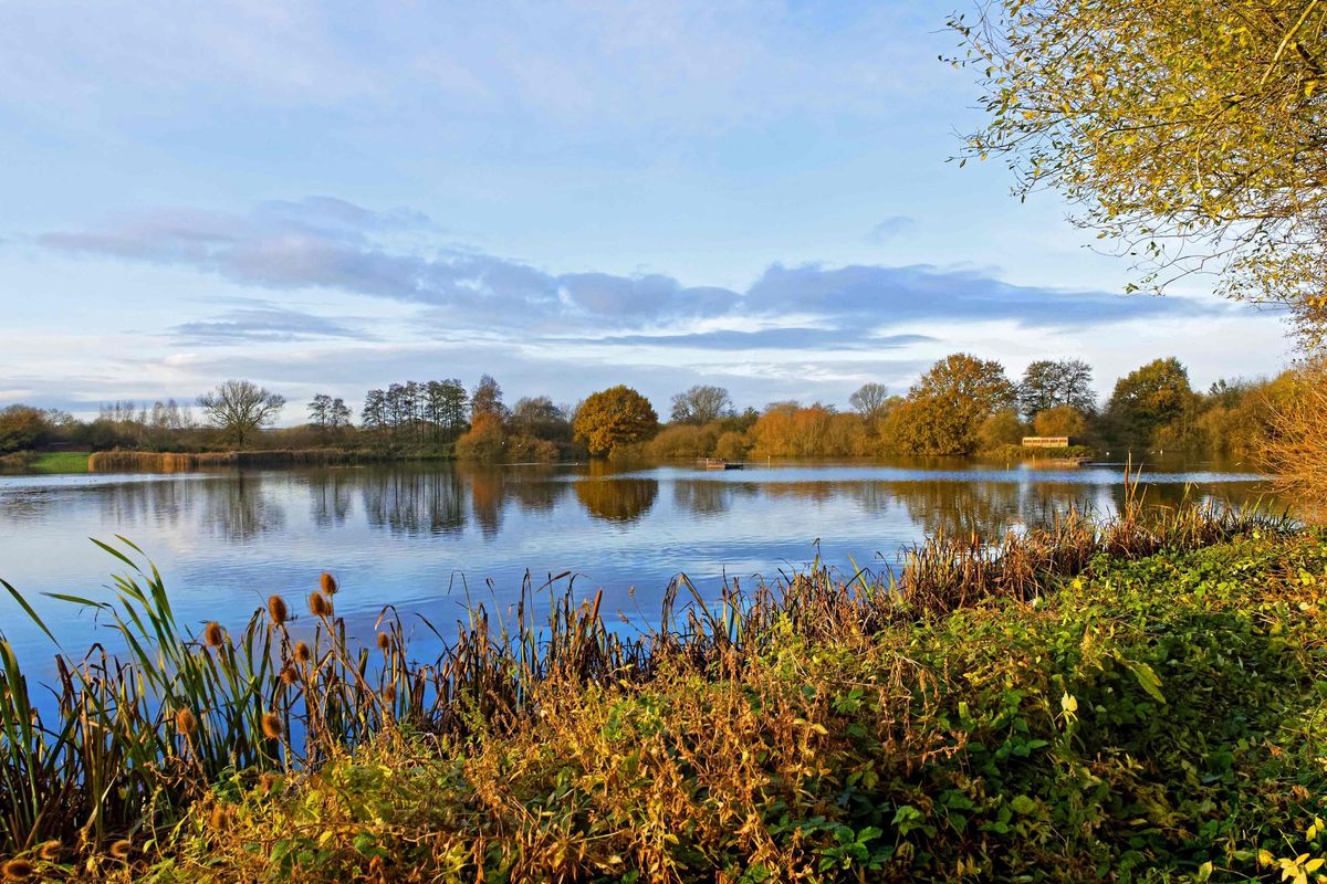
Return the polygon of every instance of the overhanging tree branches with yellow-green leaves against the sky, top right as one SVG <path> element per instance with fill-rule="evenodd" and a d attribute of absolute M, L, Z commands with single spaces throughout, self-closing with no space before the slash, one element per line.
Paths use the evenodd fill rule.
<path fill-rule="evenodd" d="M 1121 252 L 1172 241 L 1148 288 L 1214 270 L 1327 334 L 1306 304 L 1327 292 L 1327 0 L 999 0 L 950 25 L 986 70 L 963 159 L 1007 155 L 1020 193 L 1060 190 Z"/>

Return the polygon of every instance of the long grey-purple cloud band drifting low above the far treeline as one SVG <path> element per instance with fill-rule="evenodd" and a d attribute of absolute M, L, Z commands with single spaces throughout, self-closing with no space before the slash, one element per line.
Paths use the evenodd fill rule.
<path fill-rule="evenodd" d="M 519 321 L 525 333 L 616 334 L 628 335 L 624 343 L 691 347 L 805 346 L 809 337 L 827 347 L 868 337 L 884 338 L 878 346 L 890 346 L 889 334 L 910 331 L 900 326 L 929 321 L 1091 327 L 1226 309 L 1220 302 L 1184 298 L 1016 286 L 989 272 L 932 265 L 775 264 L 744 290 L 686 286 L 662 273 L 556 274 L 511 258 L 438 245 L 442 237 L 441 228 L 418 212 L 376 212 L 332 197 L 307 197 L 264 203 L 248 213 L 141 212 L 100 228 L 45 233 L 40 243 L 66 253 L 187 266 L 269 294 L 330 289 L 427 305 L 445 314 L 446 326 L 454 330 L 510 330 Z M 805 318 L 803 331 L 750 333 L 739 326 L 739 321 L 752 318 L 788 317 Z M 701 321 L 710 327 L 687 327 Z M 733 327 L 714 327 L 725 322 Z M 272 307 L 188 322 L 175 331 L 214 341 L 362 337 L 325 317 Z"/>

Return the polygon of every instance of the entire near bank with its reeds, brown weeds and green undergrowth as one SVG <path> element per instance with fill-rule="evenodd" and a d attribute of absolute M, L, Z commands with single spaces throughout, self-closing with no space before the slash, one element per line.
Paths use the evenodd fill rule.
<path fill-rule="evenodd" d="M 146 685 L 70 663 L 41 736 L 5 660 L 4 835 L 46 877 L 1314 880 L 1327 851 L 1327 534 L 1274 520 L 1131 508 L 934 538 L 892 582 L 679 584 L 632 640 L 597 599 L 476 610 L 427 665 L 390 619 L 346 645 L 334 595 L 301 647 L 284 603 L 195 636 L 137 579 Z"/>

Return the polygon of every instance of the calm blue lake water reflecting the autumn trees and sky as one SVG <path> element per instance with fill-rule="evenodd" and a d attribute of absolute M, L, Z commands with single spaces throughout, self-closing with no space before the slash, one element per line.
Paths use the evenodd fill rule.
<path fill-rule="evenodd" d="M 717 595 L 725 577 L 772 580 L 805 567 L 817 549 L 849 574 L 851 561 L 884 570 L 941 527 L 997 534 L 1070 506 L 1109 513 L 1123 474 L 1123 467 L 971 464 L 727 472 L 438 464 L 11 476 L 0 477 L 0 578 L 77 652 L 106 630 L 92 612 L 40 594 L 110 598 L 109 575 L 126 569 L 89 538 L 117 534 L 157 563 L 184 623 L 238 630 L 272 592 L 303 610 L 324 570 L 341 580 L 337 612 L 360 635 L 385 604 L 439 627 L 455 622 L 467 594 L 504 608 L 527 573 L 539 584 L 572 571 L 579 595 L 602 588 L 606 612 L 649 620 L 678 574 Z M 1238 467 L 1158 467 L 1147 477 L 1153 501 L 1190 493 L 1241 502 L 1266 492 Z M 0 632 L 21 659 L 49 659 L 50 641 L 3 592 Z"/>

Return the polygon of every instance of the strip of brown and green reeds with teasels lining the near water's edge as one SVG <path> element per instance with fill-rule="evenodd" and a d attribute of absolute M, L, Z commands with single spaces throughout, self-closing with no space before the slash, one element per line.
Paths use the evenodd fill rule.
<path fill-rule="evenodd" d="M 681 577 L 658 626 L 630 635 L 609 626 L 600 594 L 576 600 L 553 588 L 565 575 L 541 586 L 527 578 L 522 600 L 500 616 L 475 604 L 446 634 L 425 620 L 445 649 L 422 663 L 390 607 L 372 644 L 349 640 L 330 575 L 304 599 L 272 596 L 238 634 L 183 626 L 155 567 L 119 538 L 101 545 L 127 569 L 110 599 L 56 598 L 98 610 L 127 648 L 122 656 L 102 645 L 81 659 L 58 653 L 57 710 L 42 716 L 36 685 L 0 641 L 0 856 L 151 842 L 219 782 L 313 771 L 384 734 L 478 744 L 549 714 L 548 684 L 564 696 L 568 685 L 617 689 L 678 667 L 719 679 L 790 634 L 861 647 L 962 607 L 1035 599 L 1089 571 L 1100 554 L 1143 558 L 1294 530 L 1289 518 L 1255 509 L 1151 508 L 1135 480 L 1113 520 L 1070 513 L 995 539 L 937 535 L 882 574 L 845 578 L 817 562 L 774 583 L 730 584 L 719 599 Z M 304 637 L 292 632 L 296 608 Z"/>

